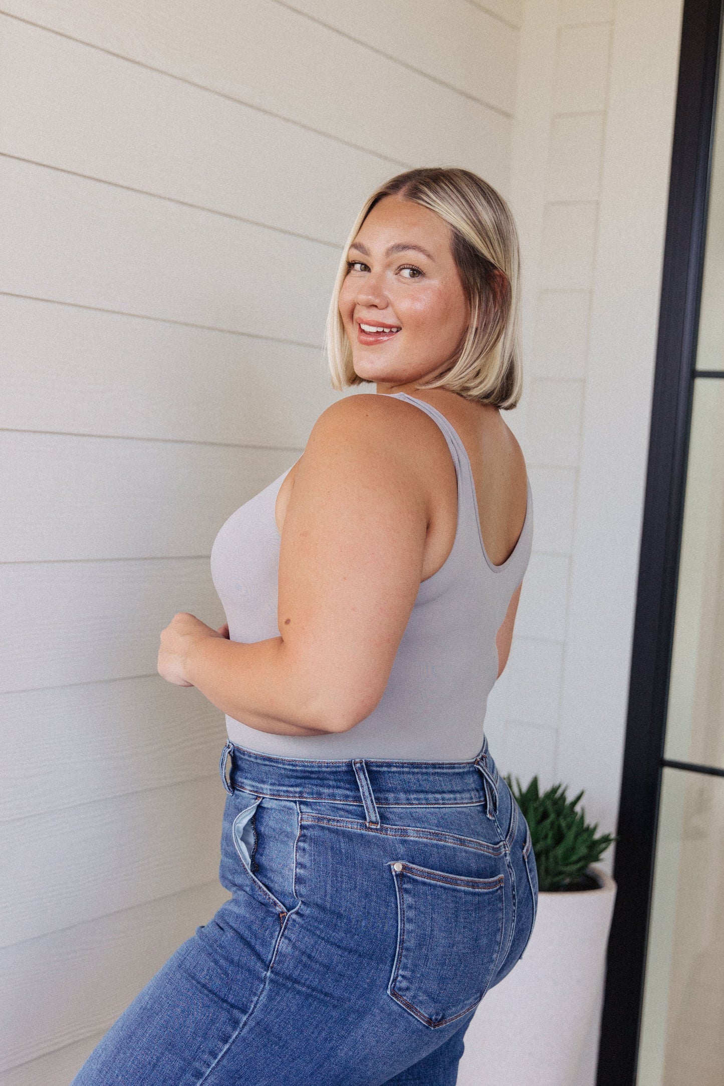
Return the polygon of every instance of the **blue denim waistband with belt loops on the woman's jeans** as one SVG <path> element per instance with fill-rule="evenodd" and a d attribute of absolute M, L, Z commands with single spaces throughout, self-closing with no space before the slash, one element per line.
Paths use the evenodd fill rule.
<path fill-rule="evenodd" d="M 231 766 L 227 781 L 226 766 Z M 498 771 L 487 736 L 470 761 L 396 761 L 352 758 L 320 761 L 258 754 L 227 741 L 219 762 L 227 792 L 236 788 L 276 799 L 360 803 L 370 824 L 377 807 L 431 807 L 484 803 L 493 817 Z"/>

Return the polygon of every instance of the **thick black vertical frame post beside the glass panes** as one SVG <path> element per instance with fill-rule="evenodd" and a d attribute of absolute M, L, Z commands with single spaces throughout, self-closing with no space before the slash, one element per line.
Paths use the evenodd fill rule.
<path fill-rule="evenodd" d="M 597 1086 L 636 1083 L 723 9 L 683 10 Z"/>

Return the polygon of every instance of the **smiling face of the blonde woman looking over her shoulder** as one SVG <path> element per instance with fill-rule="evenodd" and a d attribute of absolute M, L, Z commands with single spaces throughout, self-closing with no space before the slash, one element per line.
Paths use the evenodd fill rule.
<path fill-rule="evenodd" d="M 340 313 L 355 372 L 379 392 L 442 372 L 470 320 L 447 223 L 384 197 L 351 244 L 347 268 Z"/>

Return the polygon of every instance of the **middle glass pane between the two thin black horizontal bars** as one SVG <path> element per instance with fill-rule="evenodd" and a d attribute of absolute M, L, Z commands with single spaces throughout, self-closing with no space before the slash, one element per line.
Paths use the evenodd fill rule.
<path fill-rule="evenodd" d="M 724 378 L 695 386 L 665 757 L 724 768 Z"/>

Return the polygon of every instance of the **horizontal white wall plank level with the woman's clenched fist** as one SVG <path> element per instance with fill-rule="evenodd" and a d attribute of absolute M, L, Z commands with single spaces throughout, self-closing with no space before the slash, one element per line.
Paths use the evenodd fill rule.
<path fill-rule="evenodd" d="M 224 621 L 208 558 L 0 566 L 0 692 L 154 674 L 177 611 Z"/>

